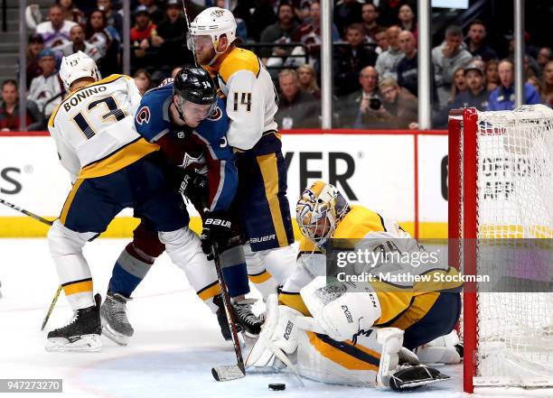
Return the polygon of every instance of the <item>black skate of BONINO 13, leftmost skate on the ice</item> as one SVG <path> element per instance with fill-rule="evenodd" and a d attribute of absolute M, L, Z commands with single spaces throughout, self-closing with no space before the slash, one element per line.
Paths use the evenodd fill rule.
<path fill-rule="evenodd" d="M 46 351 L 99 351 L 102 348 L 102 326 L 99 317 L 99 294 L 94 296 L 95 305 L 76 310 L 70 323 L 48 333 Z"/>

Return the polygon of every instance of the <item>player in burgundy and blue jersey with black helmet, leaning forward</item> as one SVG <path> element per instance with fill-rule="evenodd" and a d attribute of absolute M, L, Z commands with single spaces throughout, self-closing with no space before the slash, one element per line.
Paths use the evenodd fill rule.
<path fill-rule="evenodd" d="M 250 301 L 244 300 L 249 292 L 248 273 L 236 231 L 238 226 L 230 239 L 231 223 L 227 214 L 238 180 L 234 153 L 225 136 L 229 118 L 222 100 L 216 106 L 208 106 L 209 98 L 207 101 L 204 98 L 208 87 L 213 87 L 213 82 L 204 69 L 182 69 L 174 82 L 169 81 L 145 94 L 136 111 L 136 130 L 147 141 L 159 144 L 170 162 L 179 166 L 172 178 L 202 215 L 202 249 L 211 255 L 213 243 L 222 248 L 223 274 L 234 299 L 235 318 L 239 319 L 241 329 L 258 334 L 261 322 L 251 312 Z M 101 309 L 104 332 L 118 344 L 127 344 L 134 333 L 127 319 L 126 302 L 155 258 L 163 252 L 164 245 L 142 220 L 134 232 L 133 242 L 117 259 L 107 300 Z M 197 294 L 202 300 L 213 298 L 220 305 L 217 315 L 221 332 L 224 338 L 230 339 L 220 286 L 205 286 Z M 252 329 L 252 325 L 258 329 Z"/>

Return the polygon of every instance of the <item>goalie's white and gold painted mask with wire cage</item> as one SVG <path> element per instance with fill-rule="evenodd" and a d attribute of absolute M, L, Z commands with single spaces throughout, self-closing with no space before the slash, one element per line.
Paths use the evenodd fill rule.
<path fill-rule="evenodd" d="M 348 211 L 350 205 L 342 193 L 318 180 L 302 193 L 295 207 L 295 218 L 302 234 L 323 248 Z"/>

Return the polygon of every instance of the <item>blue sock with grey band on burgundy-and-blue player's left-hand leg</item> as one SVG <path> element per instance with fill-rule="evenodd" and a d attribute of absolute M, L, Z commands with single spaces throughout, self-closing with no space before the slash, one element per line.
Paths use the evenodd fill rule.
<path fill-rule="evenodd" d="M 132 243 L 128 244 L 113 267 L 108 292 L 119 293 L 130 298 L 146 273 L 150 271 L 154 261 L 155 258 L 141 254 Z"/>

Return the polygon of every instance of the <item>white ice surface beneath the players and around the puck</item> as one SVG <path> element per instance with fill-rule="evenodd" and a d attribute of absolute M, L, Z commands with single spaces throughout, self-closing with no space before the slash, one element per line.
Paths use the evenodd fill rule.
<path fill-rule="evenodd" d="M 105 294 L 112 266 L 125 239 L 97 239 L 85 247 L 94 290 Z M 102 337 L 98 353 L 47 353 L 40 327 L 58 286 L 48 245 L 39 239 L 0 239 L 0 379 L 63 380 L 54 396 L 91 398 L 151 397 L 392 397 L 374 390 L 304 380 L 284 374 L 248 374 L 218 383 L 211 367 L 236 363 L 232 345 L 220 337 L 217 320 L 190 288 L 184 274 L 163 255 L 127 304 L 136 332 L 127 347 Z M 64 325 L 71 312 L 61 294 L 46 330 Z M 451 381 L 423 387 L 409 396 L 450 398 L 462 393 L 462 366 L 442 366 Z M 269 383 L 286 383 L 272 392 Z M 497 390 L 496 390 L 497 392 Z M 0 393 L 28 397 L 42 393 Z M 520 395 L 520 393 L 517 393 Z"/>

